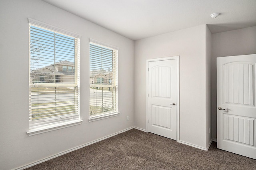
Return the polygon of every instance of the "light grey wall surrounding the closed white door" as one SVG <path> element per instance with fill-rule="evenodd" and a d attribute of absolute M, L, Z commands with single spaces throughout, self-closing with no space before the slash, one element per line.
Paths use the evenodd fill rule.
<path fill-rule="evenodd" d="M 146 59 L 179 55 L 180 141 L 200 148 L 208 146 L 206 142 L 206 109 L 209 110 L 206 108 L 206 28 L 206 25 L 201 25 L 135 42 L 135 127 L 146 129 Z"/>

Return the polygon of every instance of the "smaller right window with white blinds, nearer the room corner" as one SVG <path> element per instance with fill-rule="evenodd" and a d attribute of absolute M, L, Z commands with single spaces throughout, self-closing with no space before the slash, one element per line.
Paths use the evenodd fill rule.
<path fill-rule="evenodd" d="M 118 111 L 118 48 L 90 39 L 90 117 Z"/>

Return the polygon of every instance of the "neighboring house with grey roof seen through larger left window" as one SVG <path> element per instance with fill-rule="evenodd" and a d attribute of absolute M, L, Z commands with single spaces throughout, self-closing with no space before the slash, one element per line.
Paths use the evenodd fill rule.
<path fill-rule="evenodd" d="M 31 71 L 30 77 L 33 83 L 54 82 L 73 83 L 75 80 L 74 63 L 70 61 L 60 61 L 55 65 L 48 65 Z"/>

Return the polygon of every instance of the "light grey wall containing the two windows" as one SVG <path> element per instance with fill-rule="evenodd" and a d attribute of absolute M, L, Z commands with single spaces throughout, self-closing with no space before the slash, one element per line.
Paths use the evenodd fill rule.
<path fill-rule="evenodd" d="M 28 18 L 79 34 L 81 125 L 28 136 Z M 28 165 L 134 126 L 134 41 L 40 0 L 0 1 L 0 169 Z M 119 116 L 88 122 L 89 38 L 120 47 Z M 125 78 L 124 78 L 125 77 Z M 126 116 L 130 121 L 126 121 Z"/>

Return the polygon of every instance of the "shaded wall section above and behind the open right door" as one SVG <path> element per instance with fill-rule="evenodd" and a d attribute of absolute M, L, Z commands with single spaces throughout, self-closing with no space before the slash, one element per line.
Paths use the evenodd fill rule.
<path fill-rule="evenodd" d="M 217 139 L 216 58 L 256 53 L 256 26 L 212 34 L 212 138 Z"/>

